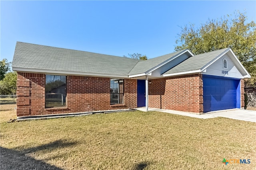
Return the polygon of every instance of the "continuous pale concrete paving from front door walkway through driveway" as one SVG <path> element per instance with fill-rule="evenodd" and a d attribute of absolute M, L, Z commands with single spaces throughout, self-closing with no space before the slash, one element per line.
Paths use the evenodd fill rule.
<path fill-rule="evenodd" d="M 139 107 L 136 109 L 140 110 L 140 111 L 146 111 L 146 107 Z M 197 115 L 196 113 L 193 113 L 193 112 L 176 111 L 176 110 L 168 110 L 168 109 L 157 109 L 157 108 L 148 108 L 148 111 L 160 111 L 160 112 L 164 112 L 164 113 L 171 113 L 171 114 L 175 114 L 175 115 L 195 117 L 195 118 L 199 118 L 199 119 L 210 119 L 210 118 L 214 118 L 214 117 L 226 117 L 229 119 L 256 122 L 256 111 L 244 110 L 244 109 L 228 109 L 228 110 L 204 113 L 202 115 Z"/>

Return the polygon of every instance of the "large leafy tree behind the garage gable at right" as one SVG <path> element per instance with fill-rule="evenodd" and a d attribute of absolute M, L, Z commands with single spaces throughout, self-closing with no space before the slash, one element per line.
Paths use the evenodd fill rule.
<path fill-rule="evenodd" d="M 246 20 L 246 13 L 238 11 L 234 17 L 208 20 L 198 29 L 190 23 L 178 35 L 175 50 L 190 49 L 200 54 L 230 47 L 252 76 L 246 84 L 256 85 L 256 24 Z"/>

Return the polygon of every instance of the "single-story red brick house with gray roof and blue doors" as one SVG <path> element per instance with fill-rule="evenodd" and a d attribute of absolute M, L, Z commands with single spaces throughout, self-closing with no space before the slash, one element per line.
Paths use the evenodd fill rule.
<path fill-rule="evenodd" d="M 146 61 L 17 42 L 17 117 L 154 107 L 195 113 L 244 107 L 250 74 L 232 49 Z"/>

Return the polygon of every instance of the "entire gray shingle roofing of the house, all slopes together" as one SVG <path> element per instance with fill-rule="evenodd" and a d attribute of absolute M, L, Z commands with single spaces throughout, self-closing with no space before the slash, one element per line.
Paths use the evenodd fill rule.
<path fill-rule="evenodd" d="M 12 67 L 128 76 L 145 73 L 186 50 L 187 49 L 143 61 L 17 42 Z M 195 55 L 168 70 L 164 74 L 201 69 L 224 51 L 226 51 L 226 49 Z"/>

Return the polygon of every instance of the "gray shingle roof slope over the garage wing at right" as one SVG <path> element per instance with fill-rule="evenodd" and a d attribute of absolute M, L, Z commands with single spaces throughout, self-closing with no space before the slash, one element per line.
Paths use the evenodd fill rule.
<path fill-rule="evenodd" d="M 172 74 L 172 73 L 176 73 L 176 72 L 199 70 L 199 69 L 203 68 L 206 64 L 210 63 L 212 60 L 214 60 L 216 57 L 218 57 L 220 54 L 222 54 L 227 49 L 229 49 L 229 48 L 211 51 L 211 52 L 203 53 L 203 54 L 199 54 L 199 55 L 194 55 L 194 56 L 186 59 L 182 63 L 178 64 L 177 66 L 173 67 L 172 69 L 168 70 L 164 74 Z"/>

